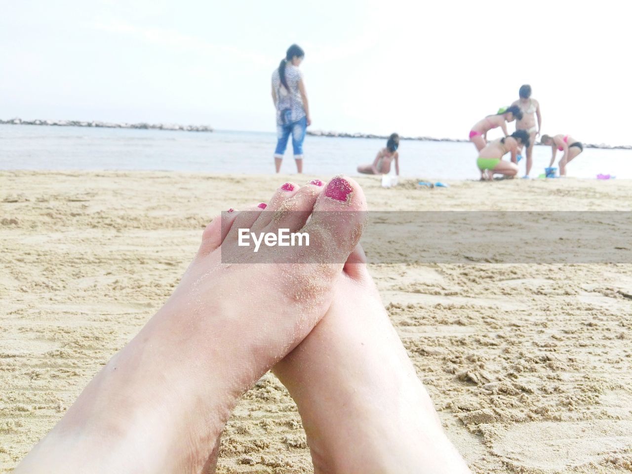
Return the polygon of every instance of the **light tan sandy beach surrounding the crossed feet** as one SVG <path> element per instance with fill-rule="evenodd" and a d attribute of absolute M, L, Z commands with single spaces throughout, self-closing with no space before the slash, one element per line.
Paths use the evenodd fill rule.
<path fill-rule="evenodd" d="M 327 178 L 298 182 L 316 177 Z M 210 218 L 267 200 L 291 179 L 0 171 L 0 473 L 161 307 Z M 434 190 L 416 180 L 391 189 L 374 176 L 358 182 L 370 210 L 632 210 L 632 181 L 621 179 L 448 181 Z M 529 249 L 545 250 L 537 240 Z M 474 472 L 632 472 L 632 265 L 370 272 Z M 273 375 L 234 410 L 217 472 L 312 472 L 296 406 Z"/>

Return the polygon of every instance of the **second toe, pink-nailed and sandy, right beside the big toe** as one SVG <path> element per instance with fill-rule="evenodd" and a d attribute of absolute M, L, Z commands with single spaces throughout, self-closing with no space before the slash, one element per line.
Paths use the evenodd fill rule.
<path fill-rule="evenodd" d="M 272 214 L 269 228 L 297 231 L 312 214 L 316 199 L 325 189 L 320 179 L 313 179 L 301 187 L 293 197 L 286 198 Z"/>

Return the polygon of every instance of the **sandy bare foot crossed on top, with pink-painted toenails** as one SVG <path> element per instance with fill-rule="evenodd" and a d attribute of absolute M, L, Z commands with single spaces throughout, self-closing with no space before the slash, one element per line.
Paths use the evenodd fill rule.
<path fill-rule="evenodd" d="M 365 198 L 355 181 L 334 178 L 327 186 L 286 183 L 267 205 L 277 212 L 262 207 L 226 212 L 209 224 L 171 298 L 16 474 L 202 470 L 236 399 L 329 308 L 343 268 L 331 262 L 344 262 L 358 243 Z M 238 228 L 300 230 L 310 234 L 310 246 L 288 248 L 276 264 L 225 264 L 222 249 L 252 257 L 252 246 L 236 245 Z M 258 253 L 277 250 L 262 245 Z M 287 263 L 306 256 L 319 263 Z"/>

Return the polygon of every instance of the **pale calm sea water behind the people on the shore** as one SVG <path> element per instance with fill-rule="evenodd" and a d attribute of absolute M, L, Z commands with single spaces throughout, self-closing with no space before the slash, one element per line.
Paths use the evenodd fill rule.
<path fill-rule="evenodd" d="M 276 134 L 264 132 L 0 125 L 0 169 L 274 173 L 275 145 Z M 355 175 L 357 166 L 372 162 L 384 146 L 386 140 L 377 138 L 308 136 L 303 145 L 303 172 L 320 176 Z M 398 151 L 403 177 L 480 177 L 476 167 L 477 151 L 472 143 L 402 140 Z M 535 147 L 532 177 L 544 173 L 550 154 L 550 147 Z M 554 166 L 561 155 L 557 153 Z M 281 172 L 296 172 L 291 142 Z M 524 173 L 523 159 L 520 175 Z M 632 178 L 632 150 L 585 149 L 568 166 L 568 176 L 595 178 L 600 173 Z"/>

